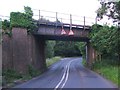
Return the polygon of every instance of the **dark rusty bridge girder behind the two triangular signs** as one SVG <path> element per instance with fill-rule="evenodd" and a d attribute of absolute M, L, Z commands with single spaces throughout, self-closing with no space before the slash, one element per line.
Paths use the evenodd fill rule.
<path fill-rule="evenodd" d="M 81 41 L 81 42 L 89 41 L 88 34 L 90 32 L 90 28 L 88 27 L 85 27 L 85 30 L 83 26 L 72 27 L 74 35 L 69 35 L 70 32 L 69 25 L 64 26 L 63 29 L 66 32 L 65 35 L 61 34 L 62 26 L 40 24 L 39 29 L 37 30 L 37 32 L 34 33 L 34 35 L 43 40 Z"/>

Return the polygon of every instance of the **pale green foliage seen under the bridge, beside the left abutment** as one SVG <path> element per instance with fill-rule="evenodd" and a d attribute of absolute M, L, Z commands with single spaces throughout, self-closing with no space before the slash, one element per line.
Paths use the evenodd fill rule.
<path fill-rule="evenodd" d="M 52 58 L 54 56 L 55 41 L 46 41 L 46 58 Z"/>

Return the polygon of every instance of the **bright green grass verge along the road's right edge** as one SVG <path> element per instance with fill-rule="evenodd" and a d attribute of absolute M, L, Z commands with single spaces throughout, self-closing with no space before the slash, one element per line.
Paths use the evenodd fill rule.
<path fill-rule="evenodd" d="M 104 76 L 106 79 L 111 80 L 116 85 L 120 86 L 117 64 L 110 63 L 110 60 L 97 61 L 93 64 L 93 70 Z"/>

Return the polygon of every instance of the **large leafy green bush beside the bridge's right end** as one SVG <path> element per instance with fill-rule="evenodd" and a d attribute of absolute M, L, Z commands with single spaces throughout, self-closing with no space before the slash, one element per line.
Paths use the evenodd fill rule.
<path fill-rule="evenodd" d="M 116 27 L 109 27 L 104 25 L 93 25 L 90 33 L 90 39 L 93 47 L 101 54 L 118 54 L 118 29 Z"/>

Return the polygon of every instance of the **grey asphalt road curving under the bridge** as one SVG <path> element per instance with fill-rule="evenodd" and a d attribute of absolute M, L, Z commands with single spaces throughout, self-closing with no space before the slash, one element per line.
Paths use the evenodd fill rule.
<path fill-rule="evenodd" d="M 83 67 L 82 58 L 64 58 L 49 67 L 44 74 L 14 88 L 52 88 L 57 90 L 59 88 L 116 88 L 116 86 L 97 73 Z"/>

